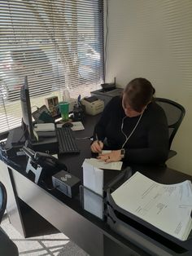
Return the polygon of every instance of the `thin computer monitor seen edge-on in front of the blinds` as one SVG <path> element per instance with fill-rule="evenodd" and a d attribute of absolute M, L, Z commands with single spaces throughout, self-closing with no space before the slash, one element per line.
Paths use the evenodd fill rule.
<path fill-rule="evenodd" d="M 31 112 L 31 103 L 28 90 L 28 77 L 24 77 L 24 85 L 20 88 L 20 103 L 22 110 L 22 126 L 25 138 L 31 142 L 37 141 L 33 132 L 33 121 Z"/>

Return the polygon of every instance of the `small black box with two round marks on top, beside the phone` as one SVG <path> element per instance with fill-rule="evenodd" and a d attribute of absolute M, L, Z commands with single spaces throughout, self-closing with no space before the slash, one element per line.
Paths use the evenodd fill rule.
<path fill-rule="evenodd" d="M 52 176 L 53 186 L 66 196 L 73 197 L 79 192 L 81 180 L 65 170 Z"/>

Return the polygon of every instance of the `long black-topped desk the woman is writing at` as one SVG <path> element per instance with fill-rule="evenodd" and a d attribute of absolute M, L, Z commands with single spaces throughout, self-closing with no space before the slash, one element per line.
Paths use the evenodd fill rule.
<path fill-rule="evenodd" d="M 91 136 L 96 121 L 97 117 L 89 117 L 85 120 L 85 130 L 76 131 L 76 138 Z M 85 157 L 91 157 L 90 141 L 78 139 L 77 143 L 81 149 L 80 155 L 59 158 L 68 166 L 72 174 L 82 180 L 82 162 Z M 177 183 L 191 179 L 189 175 L 168 168 L 148 167 L 140 171 L 159 183 Z M 117 171 L 111 172 L 117 174 Z M 45 221 L 45 218 L 90 255 L 149 255 L 142 246 L 125 240 L 113 232 L 106 222 L 82 210 L 78 196 L 70 199 L 59 191 L 49 192 L 28 179 L 24 168 L 7 167 L 2 161 L 0 176 L 7 188 L 7 211 L 11 223 L 23 236 L 30 235 L 31 227 L 28 227 L 26 217 L 34 210 L 34 214 L 39 218 L 43 217 L 41 222 Z M 25 204 L 29 206 L 27 210 L 22 206 Z M 35 222 L 32 219 L 31 223 L 34 226 Z M 172 249 L 164 252 L 164 247 L 161 245 L 155 245 L 153 249 L 157 255 L 172 255 Z"/>

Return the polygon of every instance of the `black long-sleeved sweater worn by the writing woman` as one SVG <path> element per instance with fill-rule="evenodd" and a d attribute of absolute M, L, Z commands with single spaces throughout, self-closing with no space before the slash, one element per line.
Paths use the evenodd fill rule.
<path fill-rule="evenodd" d="M 99 140 L 107 139 L 105 148 L 111 150 L 122 148 L 125 135 L 129 137 L 140 117 L 126 117 L 121 101 L 119 96 L 111 99 L 94 128 L 94 137 L 97 134 Z M 164 110 L 158 104 L 148 104 L 124 149 L 124 161 L 129 164 L 163 164 L 167 160 L 168 123 Z"/>

